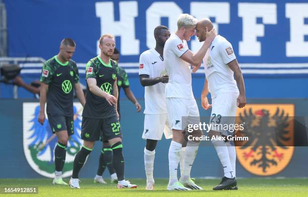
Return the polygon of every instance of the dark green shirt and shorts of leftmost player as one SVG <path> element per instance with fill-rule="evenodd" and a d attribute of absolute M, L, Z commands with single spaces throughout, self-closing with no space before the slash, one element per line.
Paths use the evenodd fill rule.
<path fill-rule="evenodd" d="M 48 84 L 46 112 L 52 132 L 73 129 L 73 85 L 79 83 L 76 63 L 61 63 L 56 56 L 43 65 L 41 82 Z"/>

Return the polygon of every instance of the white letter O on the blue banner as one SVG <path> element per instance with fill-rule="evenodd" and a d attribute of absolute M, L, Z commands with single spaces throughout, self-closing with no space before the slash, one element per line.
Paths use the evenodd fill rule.
<path fill-rule="evenodd" d="M 171 33 L 177 31 L 177 19 L 182 14 L 182 9 L 174 2 L 155 2 L 146 10 L 146 46 L 155 48 L 154 29 L 161 25 L 161 18 L 168 17 Z"/>

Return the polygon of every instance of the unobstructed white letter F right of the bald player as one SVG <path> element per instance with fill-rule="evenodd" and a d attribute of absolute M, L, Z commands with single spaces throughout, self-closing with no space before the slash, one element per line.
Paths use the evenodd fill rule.
<path fill-rule="evenodd" d="M 277 24 L 276 4 L 239 3 L 239 17 L 243 18 L 240 56 L 261 56 L 261 43 L 257 37 L 264 36 L 263 24 Z M 257 24 L 257 18 L 262 18 L 263 24 Z"/>

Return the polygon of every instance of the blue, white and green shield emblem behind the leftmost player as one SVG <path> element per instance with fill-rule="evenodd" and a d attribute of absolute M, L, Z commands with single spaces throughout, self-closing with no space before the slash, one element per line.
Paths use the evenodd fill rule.
<path fill-rule="evenodd" d="M 66 158 L 63 176 L 71 176 L 75 154 L 82 147 L 81 114 L 82 105 L 74 103 L 75 120 L 71 122 L 74 134 L 69 137 L 66 148 Z M 52 134 L 46 119 L 41 125 L 37 119 L 40 111 L 39 103 L 23 103 L 23 147 L 29 165 L 39 174 L 54 177 L 54 148 L 57 137 Z M 47 116 L 46 116 L 47 118 Z"/>

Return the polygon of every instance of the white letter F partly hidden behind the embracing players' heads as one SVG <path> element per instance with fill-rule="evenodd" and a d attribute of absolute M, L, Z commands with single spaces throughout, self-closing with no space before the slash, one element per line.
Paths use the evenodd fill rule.
<path fill-rule="evenodd" d="M 190 3 L 190 14 L 196 17 L 198 20 L 215 18 L 213 23 L 216 32 L 218 33 L 218 24 L 230 23 L 230 5 L 227 2 L 221 3 L 204 3 L 204 2 L 192 2 Z M 200 43 L 197 38 L 191 41 L 191 51 L 198 52 L 203 43 Z"/>

